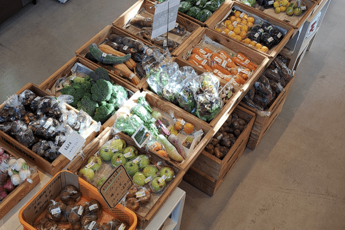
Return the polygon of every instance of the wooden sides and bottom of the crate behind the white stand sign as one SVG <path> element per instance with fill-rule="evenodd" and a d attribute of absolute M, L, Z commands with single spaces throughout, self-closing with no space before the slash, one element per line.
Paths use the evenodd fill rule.
<path fill-rule="evenodd" d="M 138 37 L 137 33 L 141 31 L 141 26 L 135 26 L 129 23 L 130 19 L 136 16 L 136 14 L 143 10 L 144 12 L 141 12 L 142 15 L 145 17 L 149 17 L 154 19 L 155 15 L 155 7 L 154 3 L 149 0 L 139 0 L 137 1 L 132 7 L 130 7 L 126 12 L 124 12 L 120 17 L 118 17 L 115 21 L 113 21 L 113 25 L 119 28 L 122 28 L 132 34 L 135 37 Z M 176 35 L 172 32 L 169 32 L 168 37 L 169 39 L 172 39 L 173 42 L 177 43 L 177 48 L 171 48 L 170 52 L 172 56 L 175 56 L 176 53 L 180 48 L 183 48 L 185 44 L 187 44 L 190 41 L 190 38 L 194 35 L 196 29 L 200 27 L 197 23 L 194 21 L 188 20 L 180 15 L 177 14 L 176 18 L 176 26 L 180 26 L 180 28 L 185 28 L 185 34 L 182 36 Z M 166 34 L 162 35 L 166 39 Z M 150 45 L 156 45 L 159 48 L 162 48 L 161 45 L 163 45 L 163 40 L 160 41 L 152 41 L 151 35 L 150 40 L 145 40 Z M 142 39 L 143 40 L 143 39 Z M 162 43 L 161 43 L 162 42 Z M 169 44 L 169 43 L 168 43 Z"/>

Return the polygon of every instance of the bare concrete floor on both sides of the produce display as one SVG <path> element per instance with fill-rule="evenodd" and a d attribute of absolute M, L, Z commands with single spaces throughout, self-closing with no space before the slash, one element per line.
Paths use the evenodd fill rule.
<path fill-rule="evenodd" d="M 0 25 L 0 101 L 40 84 L 135 1 L 26 5 Z M 216 194 L 182 181 L 181 230 L 345 229 L 343 16 L 342 2 L 333 0 L 281 114 Z"/>

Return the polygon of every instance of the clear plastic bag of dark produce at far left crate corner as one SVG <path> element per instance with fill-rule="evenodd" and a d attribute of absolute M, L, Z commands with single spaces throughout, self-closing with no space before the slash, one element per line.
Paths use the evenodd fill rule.
<path fill-rule="evenodd" d="M 1 109 L 2 117 L 9 120 L 19 120 L 25 115 L 25 108 L 22 105 L 22 100 L 19 99 L 18 95 L 13 94 L 5 102 Z"/>

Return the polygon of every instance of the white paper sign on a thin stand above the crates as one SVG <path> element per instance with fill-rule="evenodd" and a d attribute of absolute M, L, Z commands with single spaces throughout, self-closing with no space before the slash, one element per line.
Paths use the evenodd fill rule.
<path fill-rule="evenodd" d="M 179 0 L 166 0 L 162 3 L 155 5 L 156 9 L 151 39 L 165 34 L 167 32 L 167 27 L 168 30 L 172 30 L 175 27 L 178 5 Z"/>

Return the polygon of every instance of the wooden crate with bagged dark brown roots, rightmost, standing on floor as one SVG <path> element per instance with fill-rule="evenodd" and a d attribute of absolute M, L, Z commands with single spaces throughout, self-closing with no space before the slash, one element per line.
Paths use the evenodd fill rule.
<path fill-rule="evenodd" d="M 286 59 L 277 56 L 247 92 L 240 105 L 256 114 L 247 147 L 255 149 L 283 109 L 295 79 Z"/>

